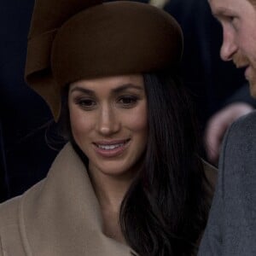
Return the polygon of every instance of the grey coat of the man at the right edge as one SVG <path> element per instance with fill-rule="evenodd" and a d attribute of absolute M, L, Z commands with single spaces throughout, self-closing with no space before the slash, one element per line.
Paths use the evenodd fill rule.
<path fill-rule="evenodd" d="M 225 135 L 198 255 L 256 255 L 256 112 L 236 121 Z"/>

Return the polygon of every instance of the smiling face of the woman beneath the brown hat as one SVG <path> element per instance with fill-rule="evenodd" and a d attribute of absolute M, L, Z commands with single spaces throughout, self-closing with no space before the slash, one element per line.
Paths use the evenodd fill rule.
<path fill-rule="evenodd" d="M 70 123 L 90 172 L 119 176 L 136 172 L 148 139 L 142 75 L 84 79 L 70 84 Z"/>

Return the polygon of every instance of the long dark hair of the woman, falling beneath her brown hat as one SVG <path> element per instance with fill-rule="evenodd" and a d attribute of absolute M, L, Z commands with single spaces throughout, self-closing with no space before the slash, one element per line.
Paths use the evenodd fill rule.
<path fill-rule="evenodd" d="M 182 84 L 166 73 L 144 76 L 148 98 L 148 146 L 143 168 L 125 195 L 120 224 L 140 256 L 193 255 L 207 224 L 207 180 L 200 155 L 195 115 Z M 67 100 L 67 91 L 66 91 Z M 62 123 L 73 147 L 67 101 Z M 66 105 L 66 107 L 65 107 Z"/>

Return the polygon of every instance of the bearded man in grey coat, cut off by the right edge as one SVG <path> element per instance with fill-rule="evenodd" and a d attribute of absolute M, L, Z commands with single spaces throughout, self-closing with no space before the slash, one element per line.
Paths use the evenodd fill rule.
<path fill-rule="evenodd" d="M 245 69 L 256 96 L 256 1 L 209 0 L 223 26 L 220 55 Z M 256 113 L 230 126 L 199 255 L 256 255 Z"/>

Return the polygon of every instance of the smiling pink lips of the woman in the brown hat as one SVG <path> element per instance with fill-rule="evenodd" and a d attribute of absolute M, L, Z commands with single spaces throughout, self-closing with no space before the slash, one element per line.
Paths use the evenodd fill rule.
<path fill-rule="evenodd" d="M 102 155 L 103 157 L 115 157 L 122 154 L 127 148 L 130 139 L 126 140 L 115 140 L 115 141 L 102 141 L 93 143 L 95 145 L 95 150 L 97 154 Z"/>

